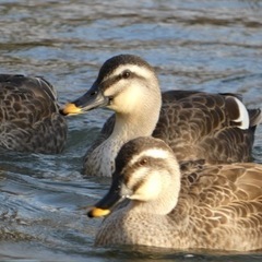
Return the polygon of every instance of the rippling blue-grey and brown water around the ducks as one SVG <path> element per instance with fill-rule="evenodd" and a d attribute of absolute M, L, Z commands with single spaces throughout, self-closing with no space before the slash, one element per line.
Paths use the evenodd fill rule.
<path fill-rule="evenodd" d="M 262 1 L 1 0 L 0 71 L 43 75 L 61 104 L 86 91 L 114 55 L 142 56 L 163 90 L 236 92 L 262 106 Z M 61 155 L 1 153 L 2 261 L 261 261 L 261 253 L 97 249 L 85 216 L 108 179 L 81 176 L 82 156 L 108 110 L 69 118 Z M 262 162 L 262 129 L 254 158 Z"/>

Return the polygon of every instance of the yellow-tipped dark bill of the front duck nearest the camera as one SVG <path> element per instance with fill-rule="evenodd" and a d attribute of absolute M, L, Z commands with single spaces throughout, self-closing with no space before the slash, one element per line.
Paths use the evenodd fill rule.
<path fill-rule="evenodd" d="M 122 193 L 121 180 L 121 177 L 116 175 L 108 193 L 87 212 L 88 217 L 100 217 L 110 214 L 114 206 L 127 198 L 127 194 Z"/>

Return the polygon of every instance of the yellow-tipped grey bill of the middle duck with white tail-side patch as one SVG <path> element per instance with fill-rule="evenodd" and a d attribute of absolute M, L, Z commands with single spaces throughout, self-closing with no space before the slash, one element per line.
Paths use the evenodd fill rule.
<path fill-rule="evenodd" d="M 108 103 L 109 98 L 103 95 L 99 85 L 95 82 L 83 96 L 68 103 L 60 112 L 64 116 L 78 115 L 95 108 L 105 107 Z"/>

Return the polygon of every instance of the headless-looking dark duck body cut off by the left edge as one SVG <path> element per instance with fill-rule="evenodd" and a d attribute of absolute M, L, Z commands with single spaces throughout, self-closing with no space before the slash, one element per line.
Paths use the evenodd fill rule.
<path fill-rule="evenodd" d="M 0 148 L 58 154 L 68 124 L 53 86 L 40 76 L 0 74 Z"/>

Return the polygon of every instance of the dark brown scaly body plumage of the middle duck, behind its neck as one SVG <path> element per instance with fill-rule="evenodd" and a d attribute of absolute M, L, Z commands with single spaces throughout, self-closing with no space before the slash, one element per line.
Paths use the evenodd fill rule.
<path fill-rule="evenodd" d="M 237 109 L 236 102 L 233 103 L 227 95 L 167 92 L 163 94 L 162 111 L 153 136 L 163 139 L 178 160 L 248 162 L 255 126 L 250 122 L 248 130 L 237 128 L 233 122 Z M 250 115 L 257 111 L 260 112 L 258 109 Z"/>

